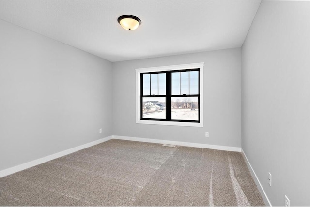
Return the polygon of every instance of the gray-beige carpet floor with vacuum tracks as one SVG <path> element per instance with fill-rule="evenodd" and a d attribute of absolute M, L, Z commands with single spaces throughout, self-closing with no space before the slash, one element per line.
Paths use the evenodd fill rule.
<path fill-rule="evenodd" d="M 109 140 L 0 178 L 0 206 L 264 206 L 240 152 Z"/>

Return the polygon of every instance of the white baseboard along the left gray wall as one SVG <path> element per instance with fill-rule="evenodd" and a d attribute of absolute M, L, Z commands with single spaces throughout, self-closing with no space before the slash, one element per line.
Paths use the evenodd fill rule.
<path fill-rule="evenodd" d="M 17 165 L 17 166 L 14 166 L 14 167 L 11 167 L 11 168 L 8 168 L 5 170 L 1 170 L 0 171 L 0 177 L 11 175 L 11 174 L 16 173 L 18 171 L 25 170 L 25 169 L 33 167 L 35 165 L 54 160 L 56 158 L 62 157 L 62 156 L 67 155 L 67 154 L 71 154 L 71 153 L 76 152 L 78 150 L 89 148 L 89 147 L 92 147 L 94 145 L 100 144 L 102 142 L 106 142 L 110 139 L 112 139 L 112 136 L 108 136 L 108 137 L 105 137 L 102 139 L 98 139 L 96 141 L 86 143 L 84 145 L 80 145 L 80 146 L 75 147 L 75 148 L 66 149 L 64 151 L 57 152 L 57 153 L 52 154 L 52 155 L 48 155 L 46 157 L 39 158 L 37 160 L 33 160 L 33 161 L 28 162 L 28 163 L 23 163 L 23 164 L 20 164 L 20 165 Z"/>

